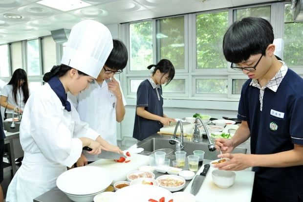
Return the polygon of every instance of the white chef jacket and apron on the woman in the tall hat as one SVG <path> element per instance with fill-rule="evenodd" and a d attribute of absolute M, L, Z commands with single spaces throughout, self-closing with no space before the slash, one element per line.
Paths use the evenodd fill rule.
<path fill-rule="evenodd" d="M 29 97 L 20 125 L 24 151 L 21 167 L 8 186 L 6 201 L 32 202 L 56 187 L 56 179 L 81 156 L 78 137 L 96 139 L 98 133 L 80 121 L 73 106 L 67 112 L 48 84 Z M 81 179 L 79 179 L 81 180 Z"/>

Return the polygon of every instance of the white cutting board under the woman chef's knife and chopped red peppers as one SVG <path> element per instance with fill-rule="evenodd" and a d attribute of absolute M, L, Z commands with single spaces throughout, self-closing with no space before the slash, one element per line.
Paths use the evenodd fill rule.
<path fill-rule="evenodd" d="M 89 165 L 108 169 L 113 175 L 113 181 L 111 183 L 111 185 L 113 185 L 116 181 L 127 180 L 126 175 L 130 171 L 138 170 L 140 166 L 149 164 L 149 157 L 139 154 L 130 153 L 130 157 L 127 157 L 126 160 L 130 160 L 130 162 L 125 163 L 116 162 L 112 159 L 99 159 Z"/>

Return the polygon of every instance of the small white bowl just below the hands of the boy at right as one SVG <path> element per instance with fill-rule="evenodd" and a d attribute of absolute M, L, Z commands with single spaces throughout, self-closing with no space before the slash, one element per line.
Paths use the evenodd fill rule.
<path fill-rule="evenodd" d="M 226 170 L 213 170 L 213 182 L 220 188 L 228 188 L 234 184 L 236 173 Z"/>

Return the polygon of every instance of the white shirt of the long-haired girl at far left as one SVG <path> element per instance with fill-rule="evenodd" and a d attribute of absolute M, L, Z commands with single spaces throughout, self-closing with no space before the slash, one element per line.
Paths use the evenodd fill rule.
<path fill-rule="evenodd" d="M 18 108 L 21 107 L 22 110 L 24 110 L 25 103 L 23 102 L 23 91 L 22 86 L 17 90 L 17 102 L 15 101 L 15 98 L 13 96 L 13 86 L 12 85 L 5 85 L 3 89 L 1 90 L 1 95 L 7 97 L 7 103 L 13 106 L 16 106 Z M 14 110 L 6 109 L 6 113 L 13 114 Z M 15 113 L 17 114 L 17 113 Z"/>

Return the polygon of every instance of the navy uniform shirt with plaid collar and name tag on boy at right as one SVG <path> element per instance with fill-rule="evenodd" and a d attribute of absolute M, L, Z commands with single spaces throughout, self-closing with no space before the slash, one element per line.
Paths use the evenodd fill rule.
<path fill-rule="evenodd" d="M 248 79 L 241 91 L 238 118 L 247 121 L 252 154 L 275 154 L 303 145 L 303 79 L 285 64 L 266 86 Z M 281 202 L 303 199 L 303 166 L 254 167 L 255 184 Z"/>

